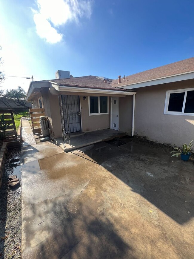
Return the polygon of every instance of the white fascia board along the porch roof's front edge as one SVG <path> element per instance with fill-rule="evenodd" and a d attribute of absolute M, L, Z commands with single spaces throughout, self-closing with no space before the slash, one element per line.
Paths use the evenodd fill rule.
<path fill-rule="evenodd" d="M 92 89 L 92 88 L 81 88 L 81 87 L 72 87 L 72 86 L 60 86 L 51 84 L 53 88 L 61 92 L 75 92 L 75 93 L 93 93 L 93 94 L 118 94 L 118 95 L 133 95 L 136 92 L 127 92 L 127 91 L 116 91 L 116 90 L 106 90 L 106 89 Z"/>

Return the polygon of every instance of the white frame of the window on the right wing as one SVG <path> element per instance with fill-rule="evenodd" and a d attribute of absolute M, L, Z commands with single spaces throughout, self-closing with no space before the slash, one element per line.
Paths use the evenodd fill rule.
<path fill-rule="evenodd" d="M 194 88 L 185 88 L 185 89 L 166 91 L 166 100 L 165 100 L 165 105 L 164 105 L 164 114 L 194 116 L 194 113 L 184 113 L 184 108 L 185 108 L 185 103 L 186 103 L 186 98 L 187 98 L 187 91 L 194 91 Z M 182 111 L 168 111 L 170 94 L 173 94 L 173 93 L 174 94 L 175 93 L 185 93 L 184 94 L 184 101 L 183 101 Z"/>

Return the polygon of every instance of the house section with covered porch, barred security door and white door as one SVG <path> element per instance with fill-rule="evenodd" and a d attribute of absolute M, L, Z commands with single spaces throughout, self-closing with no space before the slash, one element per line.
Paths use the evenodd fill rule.
<path fill-rule="evenodd" d="M 67 140 L 66 146 L 69 134 L 76 132 L 84 134 L 111 129 L 108 132 L 113 137 L 119 136 L 118 133 L 133 135 L 133 96 L 136 92 L 114 88 L 112 81 L 98 76 L 74 78 L 69 73 L 69 78 L 65 79 L 31 82 L 26 100 L 31 101 L 34 109 L 44 107 L 51 138 Z M 103 133 L 98 132 L 99 135 Z M 98 140 L 109 137 L 98 136 Z"/>

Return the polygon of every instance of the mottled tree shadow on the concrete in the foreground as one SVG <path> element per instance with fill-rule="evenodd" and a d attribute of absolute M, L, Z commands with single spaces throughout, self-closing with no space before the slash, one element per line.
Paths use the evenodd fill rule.
<path fill-rule="evenodd" d="M 67 195 L 23 208 L 22 258 L 135 258 L 113 223 L 77 197 Z"/>

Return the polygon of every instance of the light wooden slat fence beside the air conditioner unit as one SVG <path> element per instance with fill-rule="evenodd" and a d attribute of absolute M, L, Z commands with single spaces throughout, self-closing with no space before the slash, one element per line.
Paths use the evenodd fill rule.
<path fill-rule="evenodd" d="M 44 114 L 44 108 L 36 108 L 36 109 L 32 109 L 29 108 L 30 111 L 30 118 L 32 121 L 32 131 L 33 133 L 41 133 L 41 129 L 40 129 L 40 116 L 45 116 Z"/>

